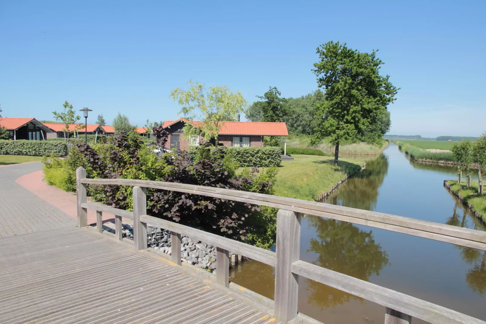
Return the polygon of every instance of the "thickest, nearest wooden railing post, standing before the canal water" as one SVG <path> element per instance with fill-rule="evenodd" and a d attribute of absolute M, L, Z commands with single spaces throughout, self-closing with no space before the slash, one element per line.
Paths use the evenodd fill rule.
<path fill-rule="evenodd" d="M 300 213 L 277 213 L 277 264 L 275 267 L 275 318 L 287 323 L 297 317 L 299 277 L 292 263 L 299 260 Z"/>

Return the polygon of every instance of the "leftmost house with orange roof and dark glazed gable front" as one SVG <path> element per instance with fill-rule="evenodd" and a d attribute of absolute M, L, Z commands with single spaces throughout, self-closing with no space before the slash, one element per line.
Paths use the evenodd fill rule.
<path fill-rule="evenodd" d="M 35 118 L 0 117 L 0 127 L 5 127 L 12 140 L 45 141 L 53 131 Z"/>

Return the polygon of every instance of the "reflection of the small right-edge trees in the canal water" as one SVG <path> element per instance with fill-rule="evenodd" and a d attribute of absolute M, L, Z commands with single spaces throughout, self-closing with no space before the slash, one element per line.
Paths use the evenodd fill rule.
<path fill-rule="evenodd" d="M 473 227 L 475 230 L 486 231 L 486 224 L 475 216 L 472 216 L 464 207 L 461 208 L 463 211 L 463 216 L 459 216 L 457 214 L 457 207 L 459 204 L 461 203 L 456 199 L 454 212 L 452 216 L 447 219 L 446 224 L 466 228 Z M 468 226 L 469 219 L 473 223 L 473 225 L 470 227 Z M 466 282 L 468 283 L 469 288 L 478 293 L 480 296 L 483 296 L 483 294 L 486 292 L 486 251 L 460 245 L 455 245 L 455 247 L 461 250 L 462 259 L 467 264 L 472 265 L 472 268 L 470 268 L 466 273 Z"/>

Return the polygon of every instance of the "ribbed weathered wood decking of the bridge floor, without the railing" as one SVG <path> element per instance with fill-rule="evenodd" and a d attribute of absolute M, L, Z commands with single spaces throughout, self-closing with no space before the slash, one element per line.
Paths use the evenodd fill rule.
<path fill-rule="evenodd" d="M 101 234 L 0 238 L 0 323 L 281 323 Z"/>

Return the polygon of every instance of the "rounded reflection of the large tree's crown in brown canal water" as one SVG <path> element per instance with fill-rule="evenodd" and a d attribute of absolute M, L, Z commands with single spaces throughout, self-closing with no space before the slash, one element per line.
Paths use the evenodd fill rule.
<path fill-rule="evenodd" d="M 372 231 L 364 231 L 351 223 L 334 219 L 309 216 L 309 227 L 313 227 L 316 237 L 310 239 L 307 252 L 317 253 L 313 264 L 368 281 L 372 274 L 379 275 L 388 265 L 388 255 L 375 243 Z M 344 291 L 320 285 L 307 280 L 311 291 L 308 302 L 321 311 L 328 307 L 358 299 Z"/>

